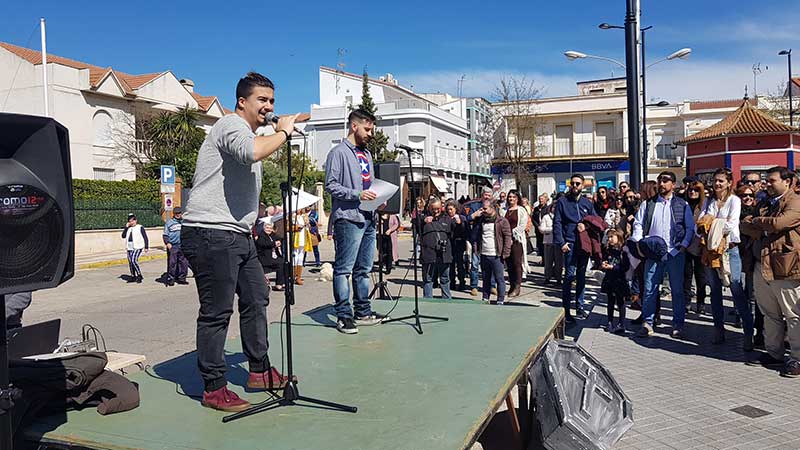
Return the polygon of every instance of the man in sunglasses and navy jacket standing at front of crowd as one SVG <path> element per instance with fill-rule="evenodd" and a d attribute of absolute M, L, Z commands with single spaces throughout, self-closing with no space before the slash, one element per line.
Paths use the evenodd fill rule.
<path fill-rule="evenodd" d="M 584 293 L 586 291 L 586 265 L 589 255 L 580 251 L 575 244 L 578 233 L 583 231 L 581 223 L 586 216 L 595 216 L 591 200 L 581 195 L 583 191 L 583 175 L 576 173 L 570 178 L 569 193 L 556 203 L 553 216 L 553 244 L 564 253 L 564 284 L 561 288 L 561 302 L 564 306 L 565 321 L 575 323 L 570 313 L 572 304 L 572 282 L 575 281 L 576 315 L 579 319 L 588 317 L 585 311 Z"/>

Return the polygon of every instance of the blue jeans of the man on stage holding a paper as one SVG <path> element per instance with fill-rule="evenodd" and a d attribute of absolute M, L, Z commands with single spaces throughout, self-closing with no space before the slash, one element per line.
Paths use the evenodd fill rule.
<path fill-rule="evenodd" d="M 333 224 L 336 258 L 333 263 L 333 301 L 336 316 L 352 318 L 372 314 L 369 302 L 369 273 L 375 258 L 375 221 L 355 223 L 339 219 Z M 353 308 L 350 308 L 350 278 Z"/>

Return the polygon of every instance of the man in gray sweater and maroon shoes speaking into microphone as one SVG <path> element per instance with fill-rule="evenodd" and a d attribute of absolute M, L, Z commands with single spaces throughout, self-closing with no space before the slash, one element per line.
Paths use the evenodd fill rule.
<path fill-rule="evenodd" d="M 281 117 L 276 133 L 256 136 L 275 105 L 275 87 L 250 72 L 236 86 L 236 110 L 217 121 L 197 155 L 197 168 L 181 228 L 181 249 L 194 272 L 200 312 L 197 365 L 203 406 L 241 411 L 250 404 L 228 390 L 225 339 L 239 294 L 242 348 L 250 364 L 247 387 L 279 389 L 289 380 L 267 356 L 268 290 L 250 230 L 258 216 L 261 160 L 280 148 L 297 116 Z"/>

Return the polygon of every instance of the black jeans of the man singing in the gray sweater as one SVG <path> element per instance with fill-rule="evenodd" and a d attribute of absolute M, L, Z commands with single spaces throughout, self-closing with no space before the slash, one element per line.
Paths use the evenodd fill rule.
<path fill-rule="evenodd" d="M 269 369 L 267 304 L 269 290 L 256 246 L 247 233 L 184 226 L 181 249 L 194 272 L 200 312 L 197 317 L 197 367 L 210 392 L 227 384 L 225 339 L 239 294 L 242 349 L 251 372 Z"/>

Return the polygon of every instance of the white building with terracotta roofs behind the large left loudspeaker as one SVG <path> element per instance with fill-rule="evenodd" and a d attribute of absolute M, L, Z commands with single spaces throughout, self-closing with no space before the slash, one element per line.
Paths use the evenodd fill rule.
<path fill-rule="evenodd" d="M 141 117 L 188 105 L 200 111 L 198 125 L 207 130 L 226 114 L 216 97 L 194 92 L 191 80 L 169 70 L 130 75 L 48 54 L 47 84 L 50 117 L 69 130 L 73 178 L 134 179 L 118 147 L 148 144 L 136 140 Z M 44 115 L 42 87 L 41 53 L 0 42 L 0 111 Z"/>

